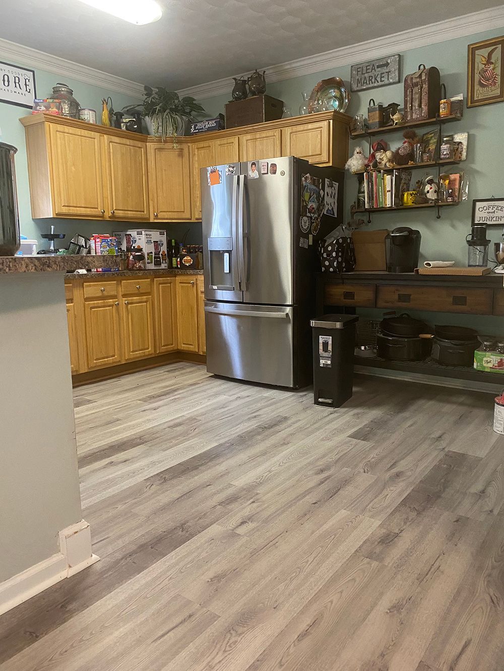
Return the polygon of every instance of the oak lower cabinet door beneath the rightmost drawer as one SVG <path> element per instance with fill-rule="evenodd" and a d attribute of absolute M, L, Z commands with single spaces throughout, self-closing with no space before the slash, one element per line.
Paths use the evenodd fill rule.
<path fill-rule="evenodd" d="M 154 311 L 152 296 L 122 300 L 124 359 L 140 359 L 154 352 Z"/>

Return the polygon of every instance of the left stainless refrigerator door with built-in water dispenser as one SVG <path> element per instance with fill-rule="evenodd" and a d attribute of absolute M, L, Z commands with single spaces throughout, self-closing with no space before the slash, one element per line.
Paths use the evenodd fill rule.
<path fill-rule="evenodd" d="M 208 168 L 200 170 L 205 295 L 214 300 L 243 301 L 237 246 L 238 174 L 226 175 L 217 166 L 221 182 L 208 185 Z"/>

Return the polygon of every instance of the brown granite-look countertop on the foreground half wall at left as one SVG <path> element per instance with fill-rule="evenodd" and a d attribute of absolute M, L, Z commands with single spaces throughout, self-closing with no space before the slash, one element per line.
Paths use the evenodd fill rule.
<path fill-rule="evenodd" d="M 77 268 L 118 268 L 118 256 L 79 256 L 78 254 L 0 256 L 0 274 L 7 272 L 72 272 Z"/>

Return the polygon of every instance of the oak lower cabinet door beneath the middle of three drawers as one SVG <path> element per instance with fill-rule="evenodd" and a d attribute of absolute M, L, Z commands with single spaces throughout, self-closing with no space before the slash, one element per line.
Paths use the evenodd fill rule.
<path fill-rule="evenodd" d="M 119 301 L 85 301 L 87 367 L 114 366 L 123 360 Z"/>

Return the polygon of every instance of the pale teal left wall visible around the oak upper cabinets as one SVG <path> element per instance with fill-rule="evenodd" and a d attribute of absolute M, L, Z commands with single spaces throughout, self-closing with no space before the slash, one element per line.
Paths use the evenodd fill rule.
<path fill-rule="evenodd" d="M 105 52 L 104 52 L 105 53 Z M 0 51 L 0 60 L 11 62 L 5 58 Z M 15 65 L 33 68 L 30 62 L 16 62 Z M 36 93 L 38 98 L 50 97 L 52 87 L 56 82 L 63 81 L 73 89 L 73 94 L 79 101 L 81 107 L 91 107 L 97 111 L 97 117 L 101 114 L 101 99 L 110 95 L 114 102 L 114 109 L 121 109 L 128 103 L 138 103 L 139 99 L 134 99 L 121 93 L 107 91 L 99 87 L 91 86 L 75 79 L 68 79 L 66 76 L 58 76 L 44 70 L 35 70 Z M 80 233 L 89 238 L 93 233 L 110 233 L 113 224 L 101 223 L 99 221 L 81 221 L 78 219 L 32 219 L 30 210 L 30 190 L 28 187 L 28 165 L 26 162 L 26 144 L 24 139 L 24 127 L 19 123 L 19 117 L 30 114 L 30 110 L 25 107 L 16 107 L 0 103 L 0 128 L 3 142 L 13 144 L 18 152 L 15 156 L 15 169 L 17 176 L 17 195 L 19 199 L 19 225 L 22 235 L 27 238 L 38 240 L 42 248 L 47 246 L 47 241 L 40 238 L 41 233 L 50 231 L 51 224 L 56 226 L 56 231 L 65 233 L 67 238 L 62 241 L 67 243 L 75 233 Z M 117 225 L 117 224 L 116 224 Z M 41 248 L 39 244 L 39 249 Z"/>

